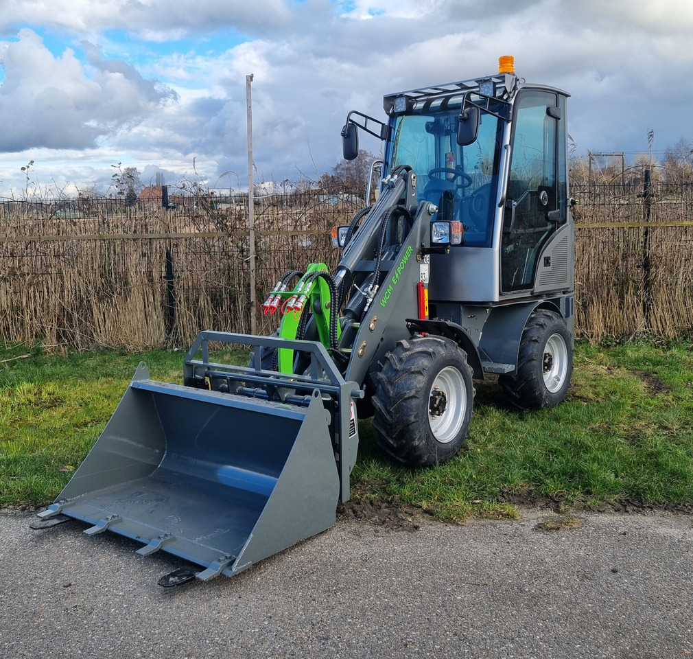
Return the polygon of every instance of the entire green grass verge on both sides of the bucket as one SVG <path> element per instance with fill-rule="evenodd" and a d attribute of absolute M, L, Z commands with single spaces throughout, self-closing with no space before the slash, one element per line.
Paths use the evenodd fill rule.
<path fill-rule="evenodd" d="M 183 353 L 89 352 L 46 357 L 0 350 L 0 505 L 50 502 L 112 415 L 137 363 L 179 382 Z M 441 520 L 516 515 L 550 499 L 568 510 L 638 502 L 693 504 L 693 347 L 579 343 L 572 387 L 555 408 L 509 408 L 495 382 L 477 384 L 465 448 L 438 468 L 405 470 L 380 457 L 360 421 L 352 493 Z"/>

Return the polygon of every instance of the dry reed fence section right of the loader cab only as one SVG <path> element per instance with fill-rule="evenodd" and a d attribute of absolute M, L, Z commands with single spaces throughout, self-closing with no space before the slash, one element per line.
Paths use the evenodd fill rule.
<path fill-rule="evenodd" d="M 693 183 L 573 190 L 582 336 L 676 339 L 693 329 Z"/>

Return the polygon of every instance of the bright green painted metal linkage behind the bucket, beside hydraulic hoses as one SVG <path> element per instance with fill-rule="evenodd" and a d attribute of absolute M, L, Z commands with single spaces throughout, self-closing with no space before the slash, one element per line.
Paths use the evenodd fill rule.
<path fill-rule="evenodd" d="M 315 272 L 328 273 L 328 268 L 324 263 L 311 263 L 308 268 L 306 268 L 306 274 L 304 277 L 301 277 L 301 280 L 296 284 L 293 291 L 281 293 L 282 304 L 294 296 L 306 296 L 301 313 L 307 314 L 312 311 L 313 322 L 317 329 L 319 341 L 326 348 L 329 348 L 330 310 L 332 302 L 330 288 L 322 277 L 315 277 L 308 286 L 304 286 L 308 275 Z M 306 307 L 310 307 L 310 309 L 306 309 Z M 281 325 L 279 326 L 279 336 L 281 336 L 282 339 L 296 339 L 301 313 L 298 311 L 287 311 L 286 314 L 282 315 Z M 337 338 L 339 338 L 340 334 L 340 327 L 337 325 Z M 280 348 L 277 356 L 279 372 L 293 373 L 294 351 L 288 348 Z"/>

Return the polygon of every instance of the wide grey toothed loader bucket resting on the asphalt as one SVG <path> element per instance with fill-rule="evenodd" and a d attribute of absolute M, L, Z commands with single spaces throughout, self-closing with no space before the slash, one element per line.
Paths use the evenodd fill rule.
<path fill-rule="evenodd" d="M 41 513 L 232 576 L 335 522 L 340 476 L 316 388 L 306 406 L 155 382 L 140 364 L 94 448 Z"/>

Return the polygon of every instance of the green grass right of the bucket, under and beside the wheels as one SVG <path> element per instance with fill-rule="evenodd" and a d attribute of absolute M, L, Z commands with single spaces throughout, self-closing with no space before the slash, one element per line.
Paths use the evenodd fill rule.
<path fill-rule="evenodd" d="M 686 345 L 577 345 L 568 399 L 510 409 L 498 385 L 477 386 L 465 450 L 435 469 L 380 459 L 362 435 L 358 497 L 421 506 L 444 520 L 512 516 L 515 502 L 561 508 L 623 502 L 693 504 L 693 351 Z"/>

